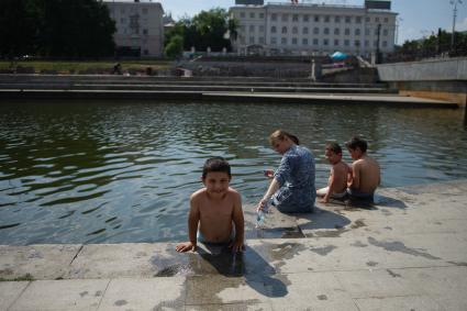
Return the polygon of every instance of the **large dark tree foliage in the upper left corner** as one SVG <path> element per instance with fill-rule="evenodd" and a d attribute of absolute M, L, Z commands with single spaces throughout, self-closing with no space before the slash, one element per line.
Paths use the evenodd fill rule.
<path fill-rule="evenodd" d="M 115 25 L 101 1 L 1 0 L 0 12 L 2 56 L 113 55 Z"/>

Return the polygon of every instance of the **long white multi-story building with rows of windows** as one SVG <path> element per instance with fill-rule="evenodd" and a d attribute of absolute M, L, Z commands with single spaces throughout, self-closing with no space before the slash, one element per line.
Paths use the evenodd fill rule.
<path fill-rule="evenodd" d="M 390 10 L 292 1 L 235 5 L 230 14 L 240 22 L 233 43 L 238 54 L 323 55 L 340 51 L 369 56 L 394 49 L 397 13 Z"/>

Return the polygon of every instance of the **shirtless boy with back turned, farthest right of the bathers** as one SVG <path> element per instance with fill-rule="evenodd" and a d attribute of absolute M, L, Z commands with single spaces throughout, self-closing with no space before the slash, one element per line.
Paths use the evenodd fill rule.
<path fill-rule="evenodd" d="M 353 178 L 348 182 L 348 195 L 351 198 L 373 201 L 375 190 L 381 182 L 379 164 L 367 156 L 367 142 L 354 136 L 345 143 L 352 158 Z"/>

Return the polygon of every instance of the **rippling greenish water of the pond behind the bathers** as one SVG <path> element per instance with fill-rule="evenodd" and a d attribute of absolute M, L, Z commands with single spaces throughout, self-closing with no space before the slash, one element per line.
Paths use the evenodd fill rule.
<path fill-rule="evenodd" d="M 267 188 L 282 127 L 316 157 L 326 184 L 327 140 L 362 134 L 382 187 L 467 178 L 459 110 L 305 104 L 2 102 L 0 244 L 187 238 L 188 198 L 210 156 L 226 157 L 244 204 Z M 351 162 L 345 152 L 345 160 Z"/>

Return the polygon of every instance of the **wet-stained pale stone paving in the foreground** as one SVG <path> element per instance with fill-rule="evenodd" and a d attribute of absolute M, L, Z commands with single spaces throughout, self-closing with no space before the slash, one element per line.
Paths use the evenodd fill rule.
<path fill-rule="evenodd" d="M 247 246 L 0 246 L 0 310 L 467 310 L 467 181 L 268 214 Z"/>

